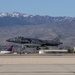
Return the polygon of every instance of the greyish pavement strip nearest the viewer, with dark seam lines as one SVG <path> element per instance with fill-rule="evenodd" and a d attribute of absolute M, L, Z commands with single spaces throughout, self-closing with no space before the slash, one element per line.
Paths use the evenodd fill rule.
<path fill-rule="evenodd" d="M 75 65 L 0 65 L 0 75 L 75 75 Z"/>

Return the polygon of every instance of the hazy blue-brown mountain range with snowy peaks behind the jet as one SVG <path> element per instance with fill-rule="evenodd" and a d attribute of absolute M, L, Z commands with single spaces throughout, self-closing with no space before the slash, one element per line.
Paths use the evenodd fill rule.
<path fill-rule="evenodd" d="M 75 46 L 75 17 L 0 13 L 0 42 L 14 36 L 40 39 L 60 37 L 63 45 Z"/>

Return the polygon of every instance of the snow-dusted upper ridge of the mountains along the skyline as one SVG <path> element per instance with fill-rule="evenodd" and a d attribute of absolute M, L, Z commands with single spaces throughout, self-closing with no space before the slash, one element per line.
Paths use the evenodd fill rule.
<path fill-rule="evenodd" d="M 0 17 L 17 17 L 17 18 L 38 18 L 38 19 L 47 19 L 47 20 L 53 20 L 54 22 L 60 22 L 60 21 L 66 21 L 69 20 L 70 22 L 73 21 L 75 19 L 75 17 L 66 17 L 66 16 L 59 16 L 59 17 L 52 17 L 52 16 L 40 16 L 40 15 L 29 15 L 27 13 L 19 13 L 19 12 L 12 12 L 12 13 L 8 13 L 8 12 L 1 12 L 0 13 Z"/>

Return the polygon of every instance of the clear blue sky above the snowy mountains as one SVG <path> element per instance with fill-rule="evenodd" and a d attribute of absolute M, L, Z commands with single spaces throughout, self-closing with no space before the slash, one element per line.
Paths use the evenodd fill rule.
<path fill-rule="evenodd" d="M 75 17 L 75 0 L 0 0 L 0 12 Z"/>

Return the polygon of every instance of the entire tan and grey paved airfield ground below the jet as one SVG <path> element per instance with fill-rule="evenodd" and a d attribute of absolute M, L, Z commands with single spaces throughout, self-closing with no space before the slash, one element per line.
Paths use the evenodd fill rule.
<path fill-rule="evenodd" d="M 75 56 L 0 55 L 0 75 L 75 75 Z"/>

